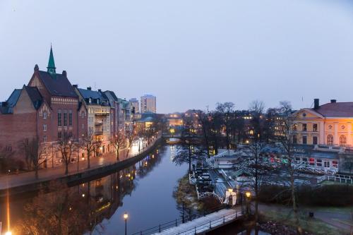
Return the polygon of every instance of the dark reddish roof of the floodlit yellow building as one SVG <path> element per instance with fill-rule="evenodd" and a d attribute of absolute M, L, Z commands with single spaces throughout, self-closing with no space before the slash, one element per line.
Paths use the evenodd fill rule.
<path fill-rule="evenodd" d="M 311 109 L 325 117 L 353 117 L 353 102 L 334 102 Z"/>

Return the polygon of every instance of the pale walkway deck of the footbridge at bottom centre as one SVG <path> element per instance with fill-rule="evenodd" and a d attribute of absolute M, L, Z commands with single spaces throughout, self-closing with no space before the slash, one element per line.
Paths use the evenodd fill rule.
<path fill-rule="evenodd" d="M 232 222 L 235 219 L 241 217 L 241 208 L 237 209 L 224 209 L 218 212 L 214 212 L 212 214 L 206 215 L 204 217 L 200 217 L 198 219 L 193 219 L 193 221 L 186 222 L 184 224 L 180 224 L 177 227 L 172 227 L 170 229 L 166 229 L 160 233 L 160 235 L 191 235 L 196 233 L 201 233 L 203 231 L 208 231 L 212 228 L 218 227 L 224 223 Z"/>

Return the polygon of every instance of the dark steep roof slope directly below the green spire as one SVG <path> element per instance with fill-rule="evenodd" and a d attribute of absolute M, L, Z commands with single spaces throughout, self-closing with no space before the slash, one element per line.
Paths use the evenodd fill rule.
<path fill-rule="evenodd" d="M 50 74 L 45 71 L 38 71 L 38 75 L 51 95 L 77 97 L 76 92 L 73 90 L 73 87 L 66 76 L 59 73 Z"/>

